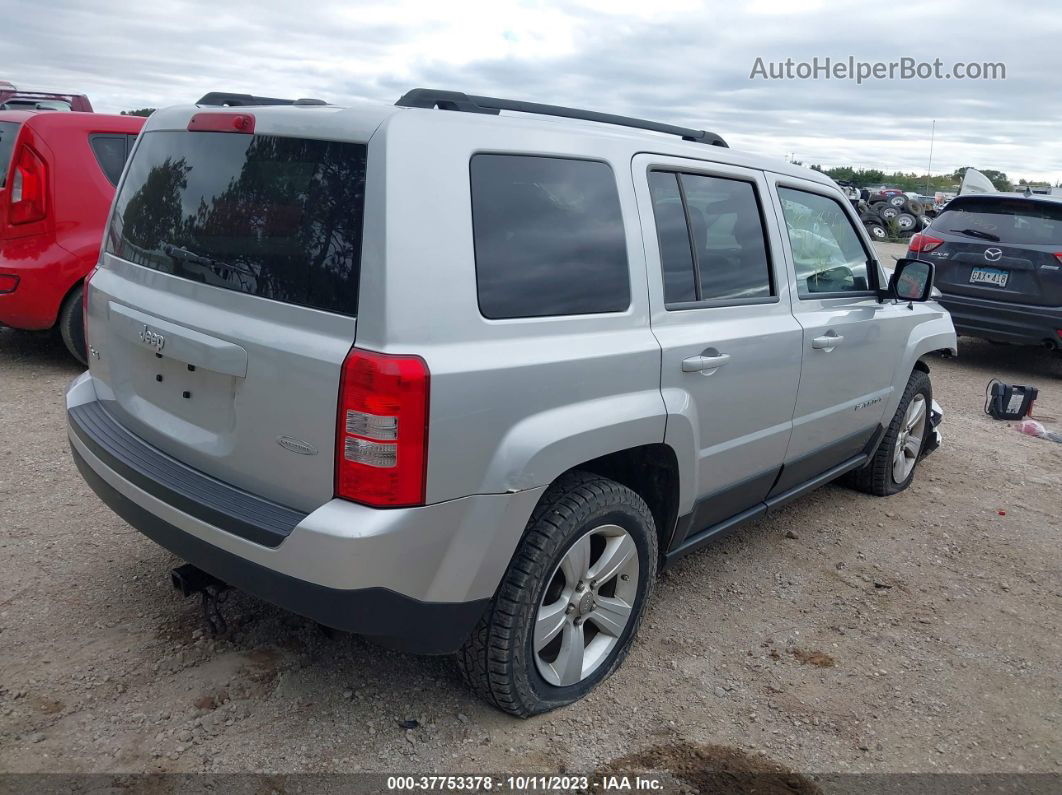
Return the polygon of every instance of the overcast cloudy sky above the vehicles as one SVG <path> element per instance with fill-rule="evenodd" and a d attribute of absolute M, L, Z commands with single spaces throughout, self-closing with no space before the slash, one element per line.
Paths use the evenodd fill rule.
<path fill-rule="evenodd" d="M 644 116 L 805 163 L 1062 180 L 1056 0 L 8 2 L 0 79 L 98 110 L 224 89 L 394 102 L 416 86 Z M 880 11 L 876 11 L 880 10 Z M 1006 80 L 750 79 L 818 56 L 1006 65 Z"/>

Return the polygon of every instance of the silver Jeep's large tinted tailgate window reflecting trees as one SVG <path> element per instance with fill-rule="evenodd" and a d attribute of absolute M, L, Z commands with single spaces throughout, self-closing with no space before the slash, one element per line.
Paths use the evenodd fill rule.
<path fill-rule="evenodd" d="M 107 250 L 212 287 L 356 315 L 365 152 L 268 135 L 145 133 Z"/>

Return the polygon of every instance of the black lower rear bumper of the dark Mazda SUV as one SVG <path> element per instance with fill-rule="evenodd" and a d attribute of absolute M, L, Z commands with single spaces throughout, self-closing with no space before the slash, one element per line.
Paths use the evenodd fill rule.
<path fill-rule="evenodd" d="M 1050 341 L 1062 346 L 1062 307 L 1038 307 L 1028 304 L 943 295 L 939 303 L 952 314 L 955 330 L 966 336 L 1041 345 Z"/>

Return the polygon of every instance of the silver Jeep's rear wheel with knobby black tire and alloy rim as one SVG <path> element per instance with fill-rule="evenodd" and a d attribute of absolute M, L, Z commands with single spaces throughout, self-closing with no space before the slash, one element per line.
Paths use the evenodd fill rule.
<path fill-rule="evenodd" d="M 607 532 L 614 535 L 603 529 L 613 529 Z M 586 566 L 579 563 L 583 549 Z M 597 585 L 592 582 L 589 589 L 575 590 L 568 581 L 578 577 L 571 572 L 581 569 L 593 576 L 610 549 L 626 552 L 624 567 Z M 656 525 L 638 495 L 589 472 L 563 476 L 535 507 L 491 605 L 458 652 L 465 682 L 490 704 L 519 718 L 582 698 L 627 657 L 652 593 L 656 557 Z M 631 607 L 621 627 L 609 624 L 615 616 L 605 608 L 604 600 L 610 599 Z M 561 607 L 550 610 L 551 605 Z M 568 608 L 561 612 L 564 605 Z M 553 617 L 551 625 L 560 630 L 547 633 L 551 640 L 536 644 L 536 624 L 546 626 L 539 620 L 547 617 Z M 599 629 L 603 624 L 614 634 Z M 565 649 L 575 649 L 577 641 L 585 643 L 587 652 L 593 649 L 598 659 L 594 654 L 579 655 L 578 660 L 570 652 L 565 656 Z M 566 661 L 581 667 L 565 669 Z M 565 670 L 578 670 L 579 678 L 561 678 Z"/>

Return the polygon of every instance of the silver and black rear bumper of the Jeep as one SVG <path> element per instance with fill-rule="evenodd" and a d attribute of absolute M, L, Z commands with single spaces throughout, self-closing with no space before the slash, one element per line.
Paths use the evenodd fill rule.
<path fill-rule="evenodd" d="M 132 526 L 260 599 L 414 652 L 443 654 L 461 645 L 500 582 L 542 491 L 391 511 L 332 500 L 308 515 L 287 508 L 281 511 L 288 514 L 270 514 L 260 498 L 183 467 L 143 443 L 123 446 L 105 438 L 132 434 L 85 421 L 79 409 L 92 402 L 91 374 L 84 374 L 67 394 L 73 459 L 92 490 Z M 150 478 L 166 486 L 173 464 L 184 468 L 185 479 L 210 482 L 185 480 L 192 487 L 178 497 L 144 482 Z M 294 524 L 282 531 L 285 522 Z M 249 524 L 259 525 L 261 535 L 249 537 Z M 267 546 L 278 528 L 282 537 Z"/>

